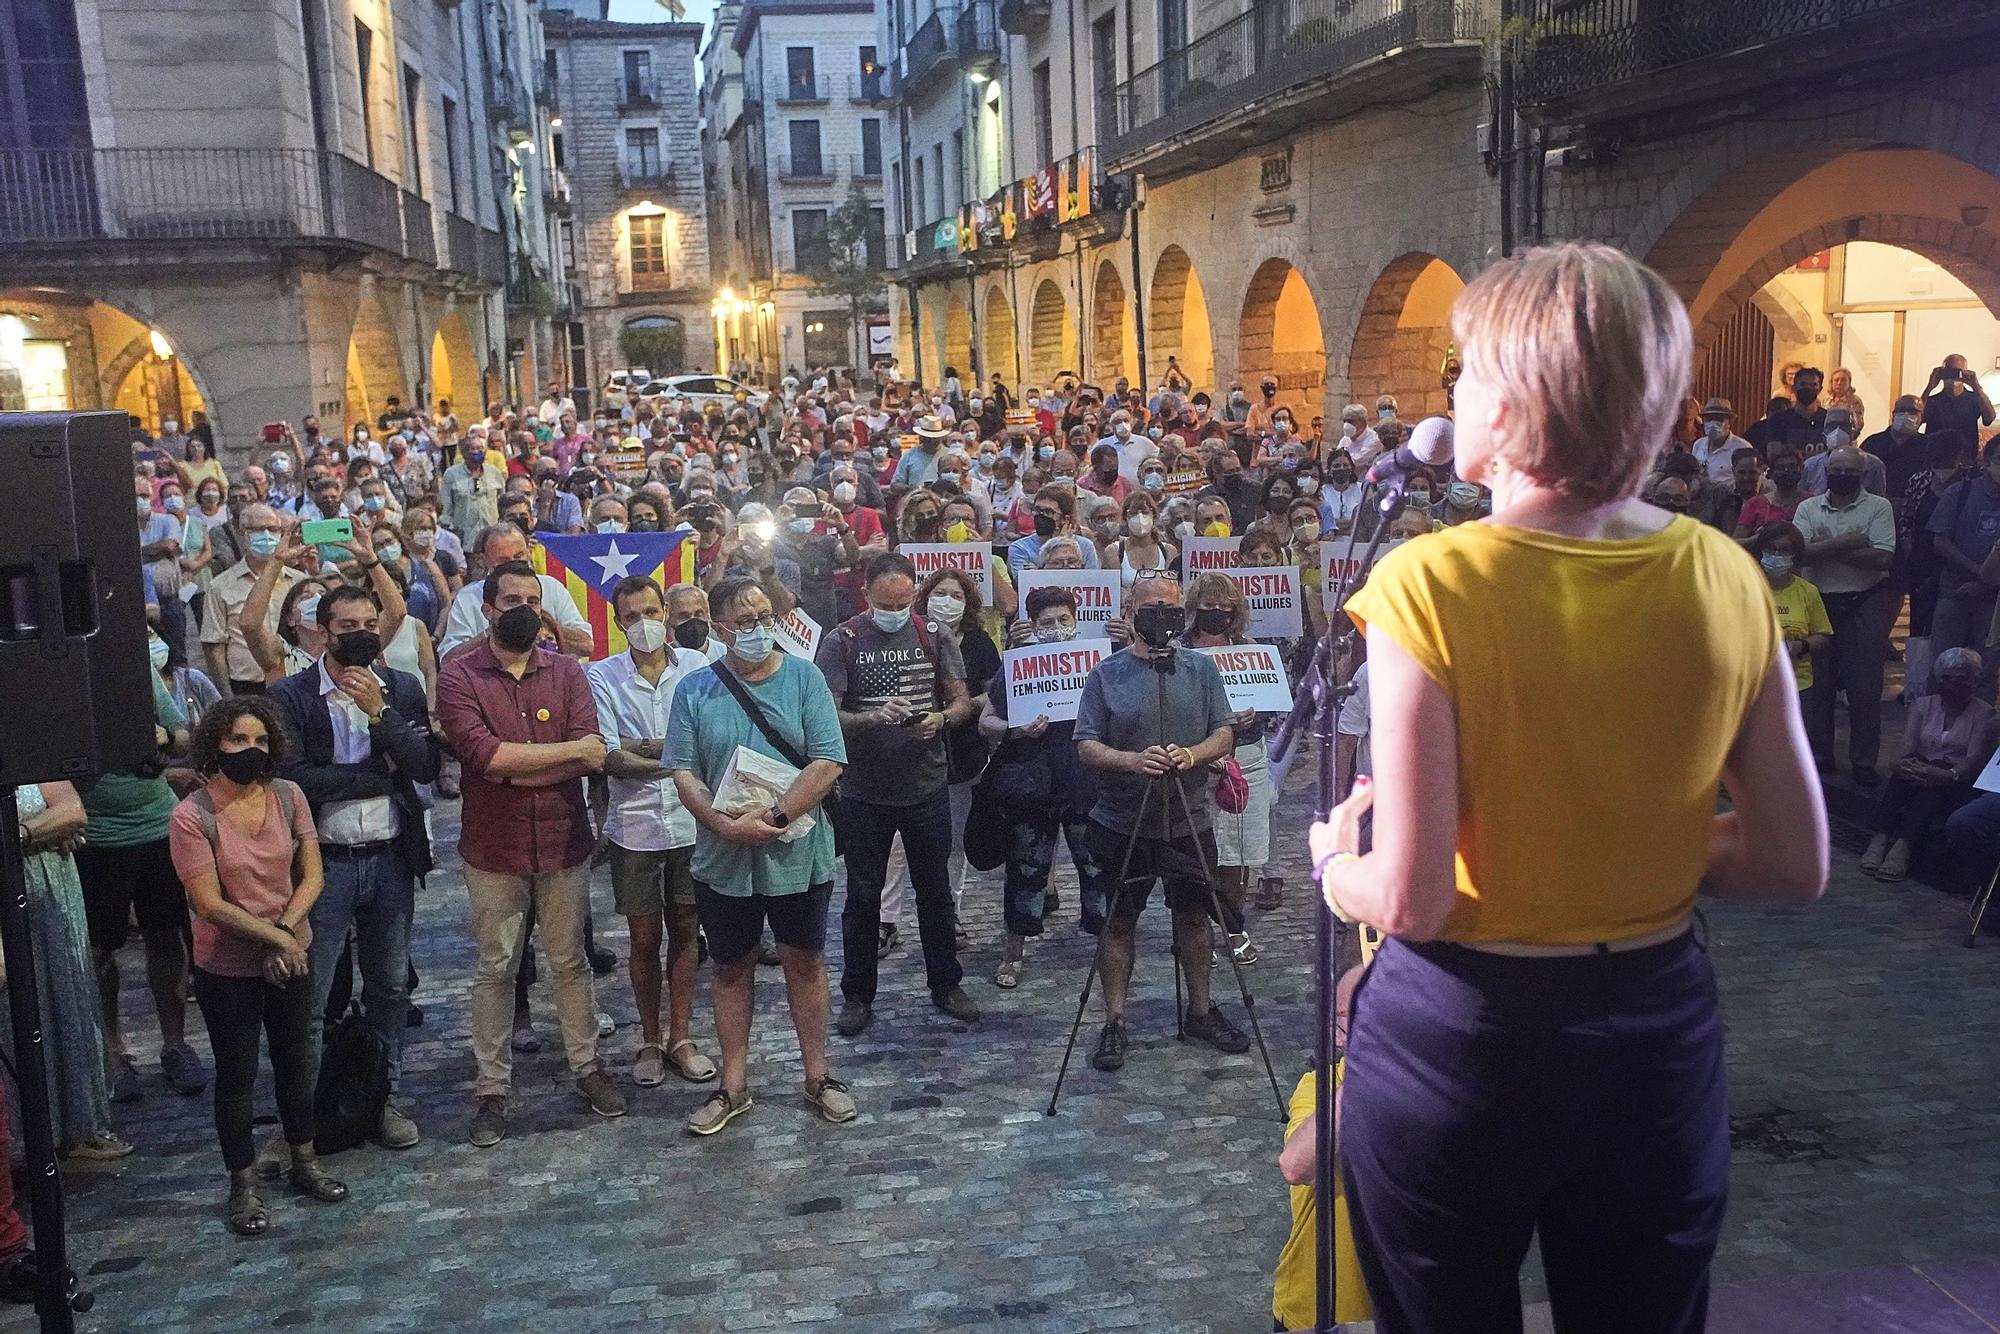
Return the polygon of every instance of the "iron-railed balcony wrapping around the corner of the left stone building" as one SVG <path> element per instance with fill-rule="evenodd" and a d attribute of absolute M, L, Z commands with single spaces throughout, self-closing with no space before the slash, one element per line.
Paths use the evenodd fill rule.
<path fill-rule="evenodd" d="M 478 230 L 458 220 L 464 228 Z M 154 242 L 364 246 L 440 264 L 430 206 L 342 154 L 312 148 L 0 150 L 0 244 L 32 248 Z M 466 248 L 476 258 L 476 246 Z"/>

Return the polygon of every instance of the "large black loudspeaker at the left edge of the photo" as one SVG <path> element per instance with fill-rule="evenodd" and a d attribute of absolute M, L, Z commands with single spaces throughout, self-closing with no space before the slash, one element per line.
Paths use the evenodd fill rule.
<path fill-rule="evenodd" d="M 124 412 L 0 412 L 0 784 L 154 756 Z"/>

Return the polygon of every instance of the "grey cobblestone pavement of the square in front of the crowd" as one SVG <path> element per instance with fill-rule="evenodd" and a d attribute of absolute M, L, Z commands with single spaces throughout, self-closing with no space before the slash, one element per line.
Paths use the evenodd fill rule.
<path fill-rule="evenodd" d="M 1304 820 L 1294 790 L 1276 840 L 1292 888 L 1284 908 L 1254 916 L 1264 962 L 1248 970 L 1286 1092 L 1310 1032 Z M 450 850 L 448 820 L 438 834 Z M 1964 950 L 1958 902 L 1878 886 L 1852 850 L 1836 862 L 1812 910 L 1708 908 L 1738 1128 L 1722 1282 L 2000 1256 L 2000 942 Z M 1074 880 L 1062 890 L 1028 980 L 1006 994 L 986 980 L 996 882 L 974 880 L 978 1030 L 928 1006 L 910 930 L 884 964 L 874 1030 L 832 1040 L 862 1108 L 850 1126 L 802 1106 L 782 990 L 762 970 L 758 1106 L 724 1134 L 682 1132 L 704 1096 L 686 1084 L 626 1084 L 632 1114 L 598 1122 L 544 1050 L 516 1064 L 508 1138 L 476 1150 L 464 1142 L 472 952 L 448 858 L 420 900 L 426 1022 L 406 1060 L 424 1142 L 330 1160 L 348 1204 L 274 1192 L 274 1234 L 238 1240 L 220 1216 L 208 1100 L 166 1090 L 142 1030 L 146 1100 L 120 1108 L 138 1152 L 72 1176 L 74 1256 L 98 1296 L 82 1328 L 1268 1330 L 1288 1226 L 1272 1090 L 1254 1048 L 1218 1056 L 1172 1040 L 1158 908 L 1142 926 L 1130 1064 L 1104 1076 L 1078 1058 L 1044 1116 L 1090 950 Z M 598 906 L 624 954 L 604 874 Z M 838 926 L 832 936 L 838 954 Z M 1232 994 L 1226 978 L 1218 994 Z M 598 980 L 598 1000 L 630 1018 L 622 968 Z M 1240 1002 L 1228 1008 L 1240 1020 Z M 706 1010 L 704 986 L 704 1040 Z M 128 1014 L 150 1014 L 138 990 Z M 552 1036 L 546 988 L 536 1018 Z M 1092 1032 L 1086 1022 L 1086 1044 Z M 634 1044 L 628 1026 L 606 1042 L 622 1078 Z"/>

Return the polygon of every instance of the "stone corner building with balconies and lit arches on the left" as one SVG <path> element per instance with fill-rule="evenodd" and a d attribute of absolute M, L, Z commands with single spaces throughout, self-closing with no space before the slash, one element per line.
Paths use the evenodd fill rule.
<path fill-rule="evenodd" d="M 202 410 L 238 456 L 534 376 L 532 6 L 44 8 L 0 50 L 0 406 Z"/>

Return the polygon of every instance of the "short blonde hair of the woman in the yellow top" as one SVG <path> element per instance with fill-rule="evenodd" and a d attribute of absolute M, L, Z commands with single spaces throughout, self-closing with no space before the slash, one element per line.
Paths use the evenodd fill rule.
<path fill-rule="evenodd" d="M 1514 414 L 1506 462 L 1596 504 L 1638 492 L 1694 376 L 1680 296 L 1600 244 L 1542 246 L 1494 264 L 1458 294 L 1452 338 L 1466 370 Z"/>

